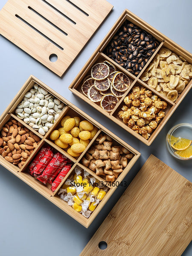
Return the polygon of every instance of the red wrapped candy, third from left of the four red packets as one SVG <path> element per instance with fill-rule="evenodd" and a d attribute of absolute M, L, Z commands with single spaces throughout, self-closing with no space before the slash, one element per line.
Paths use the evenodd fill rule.
<path fill-rule="evenodd" d="M 61 163 L 64 162 L 65 159 L 66 157 L 64 155 L 57 152 L 44 169 L 44 172 L 40 176 L 38 176 L 37 179 L 40 180 L 42 183 L 46 184 L 49 178 L 57 171 L 57 169 L 59 168 Z"/>

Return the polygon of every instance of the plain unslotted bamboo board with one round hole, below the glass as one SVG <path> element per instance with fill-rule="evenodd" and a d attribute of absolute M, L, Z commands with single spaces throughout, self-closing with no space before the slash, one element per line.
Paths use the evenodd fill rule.
<path fill-rule="evenodd" d="M 80 256 L 180 256 L 191 240 L 192 183 L 151 155 Z"/>

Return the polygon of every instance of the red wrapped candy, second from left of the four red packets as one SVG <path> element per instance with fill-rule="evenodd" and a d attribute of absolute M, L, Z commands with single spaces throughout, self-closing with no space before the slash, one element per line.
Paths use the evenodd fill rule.
<path fill-rule="evenodd" d="M 52 160 L 53 152 L 51 150 L 47 150 L 44 152 L 44 156 L 38 161 L 38 163 L 33 167 L 33 175 L 38 176 L 41 172 L 44 171 L 46 166 Z"/>

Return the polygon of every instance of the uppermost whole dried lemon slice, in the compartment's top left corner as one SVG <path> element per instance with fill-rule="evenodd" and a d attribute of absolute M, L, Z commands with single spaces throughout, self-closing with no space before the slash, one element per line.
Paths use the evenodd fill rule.
<path fill-rule="evenodd" d="M 91 69 L 91 77 L 95 80 L 103 80 L 109 75 L 109 66 L 105 63 L 97 63 Z"/>

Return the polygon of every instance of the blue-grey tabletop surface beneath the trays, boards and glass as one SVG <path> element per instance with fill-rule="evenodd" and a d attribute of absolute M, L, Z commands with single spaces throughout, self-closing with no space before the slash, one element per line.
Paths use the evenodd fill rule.
<path fill-rule="evenodd" d="M 0 36 L 0 114 L 32 74 L 141 152 L 137 164 L 125 177 L 127 184 L 151 153 L 192 181 L 192 161 L 176 160 L 168 154 L 165 143 L 166 134 L 173 125 L 181 122 L 192 123 L 192 91 L 148 147 L 68 90 L 70 83 L 125 8 L 192 52 L 192 1 L 109 2 L 114 6 L 113 11 L 62 78 Z M 6 0 L 0 0 L 0 9 L 5 3 Z M 124 190 L 125 188 L 121 187 L 116 189 L 95 221 L 86 229 L 0 166 L 0 256 L 78 256 Z M 183 253 L 183 256 L 189 255 L 192 255 L 192 243 Z"/>

